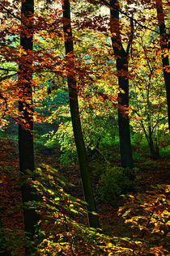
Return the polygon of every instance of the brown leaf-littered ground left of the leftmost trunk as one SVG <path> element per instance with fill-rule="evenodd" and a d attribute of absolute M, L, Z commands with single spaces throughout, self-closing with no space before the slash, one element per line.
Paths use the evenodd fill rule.
<path fill-rule="evenodd" d="M 17 182 L 19 157 L 14 140 L 0 139 L 0 145 L 0 242 L 16 251 L 24 242 L 22 199 Z M 19 250 L 19 254 L 23 251 Z"/>

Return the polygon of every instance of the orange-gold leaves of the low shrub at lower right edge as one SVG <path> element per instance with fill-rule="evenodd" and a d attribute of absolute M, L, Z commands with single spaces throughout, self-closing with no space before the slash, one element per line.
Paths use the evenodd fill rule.
<path fill-rule="evenodd" d="M 146 194 L 130 197 L 130 201 L 121 207 L 119 214 L 125 218 L 133 228 L 138 228 L 139 238 L 151 237 L 152 245 L 157 244 L 168 233 L 168 186 L 159 185 Z M 125 213 L 123 213 L 125 212 Z M 130 213 L 130 214 L 129 214 Z M 155 248 L 155 247 L 153 247 Z M 159 248 L 160 249 L 160 248 Z M 161 250 L 164 252 L 164 248 Z"/>

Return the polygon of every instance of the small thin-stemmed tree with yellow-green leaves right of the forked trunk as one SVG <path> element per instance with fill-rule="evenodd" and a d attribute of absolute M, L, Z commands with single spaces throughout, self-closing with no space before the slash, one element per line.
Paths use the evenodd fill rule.
<path fill-rule="evenodd" d="M 142 36 L 138 33 L 138 39 L 134 42 L 134 58 L 131 61 L 134 79 L 130 88 L 130 103 L 135 117 L 131 121 L 133 130 L 144 133 L 151 158 L 158 159 L 166 104 L 164 105 L 164 86 L 159 72 L 160 62 L 152 37 L 151 33 L 142 32 Z"/>

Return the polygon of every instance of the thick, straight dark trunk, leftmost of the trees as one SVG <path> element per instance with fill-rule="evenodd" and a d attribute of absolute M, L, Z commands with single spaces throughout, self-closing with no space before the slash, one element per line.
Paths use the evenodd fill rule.
<path fill-rule="evenodd" d="M 21 15 L 22 19 L 29 18 L 34 12 L 34 0 L 22 1 Z M 23 18 L 24 16 L 24 18 Z M 26 32 L 21 32 L 20 46 L 22 46 L 25 53 L 19 61 L 19 113 L 22 114 L 21 123 L 19 124 L 19 169 L 20 173 L 26 174 L 27 170 L 33 172 L 34 170 L 34 151 L 33 151 L 33 107 L 32 107 L 32 38 L 33 33 L 31 18 L 27 24 L 30 26 L 29 33 L 31 36 L 27 37 Z M 27 127 L 27 128 L 26 128 Z M 23 205 L 36 199 L 33 194 L 32 187 L 26 181 L 22 190 Z M 36 212 L 23 208 L 25 231 L 34 233 L 34 225 L 37 222 Z"/>

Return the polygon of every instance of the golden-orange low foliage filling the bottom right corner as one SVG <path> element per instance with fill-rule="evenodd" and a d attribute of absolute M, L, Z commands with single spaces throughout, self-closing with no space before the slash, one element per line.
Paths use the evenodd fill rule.
<path fill-rule="evenodd" d="M 136 231 L 135 239 L 145 241 L 151 254 L 168 254 L 169 193 L 167 185 L 153 186 L 145 194 L 130 194 L 119 214 Z"/>

